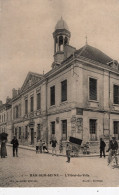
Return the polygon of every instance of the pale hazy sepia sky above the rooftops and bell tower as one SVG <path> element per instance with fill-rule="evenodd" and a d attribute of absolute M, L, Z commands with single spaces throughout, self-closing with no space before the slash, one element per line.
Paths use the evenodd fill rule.
<path fill-rule="evenodd" d="M 70 45 L 86 42 L 119 61 L 119 0 L 0 0 L 0 100 L 21 88 L 29 71 L 51 70 L 54 32 L 63 17 Z"/>

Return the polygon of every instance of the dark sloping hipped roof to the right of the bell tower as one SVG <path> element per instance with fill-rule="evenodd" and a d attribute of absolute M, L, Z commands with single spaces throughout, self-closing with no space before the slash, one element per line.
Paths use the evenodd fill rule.
<path fill-rule="evenodd" d="M 108 64 L 109 62 L 113 60 L 112 58 L 107 56 L 105 53 L 100 51 L 99 49 L 92 47 L 90 45 L 83 46 L 82 48 L 77 50 L 75 53 L 85 58 L 102 63 L 102 64 Z"/>

